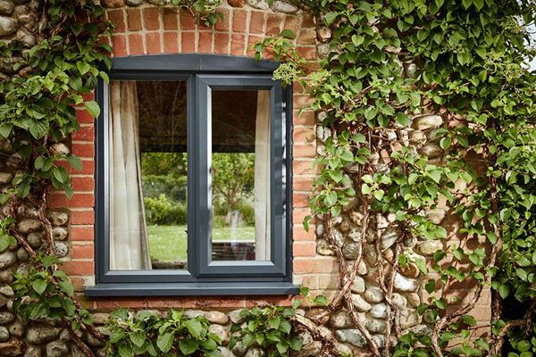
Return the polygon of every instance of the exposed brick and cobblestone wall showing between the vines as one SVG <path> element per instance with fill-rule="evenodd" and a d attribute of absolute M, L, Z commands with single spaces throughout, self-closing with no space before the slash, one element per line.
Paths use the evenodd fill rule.
<path fill-rule="evenodd" d="M 252 55 L 250 46 L 270 35 L 277 35 L 282 29 L 292 29 L 297 33 L 298 53 L 311 62 L 326 57 L 330 48 L 327 44 L 331 37 L 329 29 L 315 28 L 313 18 L 284 1 L 274 1 L 271 6 L 266 0 L 227 0 L 220 8 L 223 14 L 214 29 L 197 25 L 189 12 L 166 7 L 169 0 L 101 0 L 108 8 L 108 18 L 117 24 L 111 39 L 115 56 L 143 54 L 205 53 Z M 0 39 L 21 40 L 26 47 L 35 43 L 37 0 L 0 0 Z M 0 63 L 0 79 L 23 72 L 13 71 L 11 62 Z M 405 62 L 406 76 L 415 75 L 415 64 Z M 23 69 L 21 70 L 23 71 Z M 301 87 L 294 92 L 294 131 L 293 131 L 293 272 L 294 283 L 309 287 L 313 294 L 332 296 L 339 288 L 339 268 L 327 242 L 323 239 L 323 226 L 318 224 L 312 231 L 302 227 L 308 214 L 308 201 L 315 171 L 312 168 L 314 154 L 322 154 L 324 142 L 334 134 L 330 129 L 315 125 L 322 119 L 322 113 L 306 111 L 298 115 L 299 108 L 310 104 L 312 98 Z M 96 326 L 102 328 L 107 313 L 115 308 L 124 307 L 137 311 L 152 309 L 164 312 L 169 307 L 186 309 L 186 314 L 204 314 L 211 322 L 211 331 L 222 337 L 226 344 L 232 322 L 239 322 L 239 310 L 255 304 L 274 303 L 289 305 L 290 297 L 147 297 L 147 298 L 101 298 L 87 300 L 83 296 L 84 286 L 95 283 L 94 278 L 94 187 L 95 162 L 93 120 L 82 108 L 77 108 L 80 131 L 71 137 L 69 145 L 62 150 L 71 150 L 81 157 L 83 169 L 73 171 L 72 186 L 74 195 L 71 200 L 59 192 L 50 193 L 51 212 L 49 217 L 54 224 L 54 239 L 64 269 L 70 274 L 81 302 L 96 311 Z M 402 131 L 415 151 L 433 160 L 440 160 L 442 151 L 434 137 L 434 130 L 443 125 L 441 118 L 433 113 L 415 117 L 411 128 Z M 4 187 L 13 174 L 21 170 L 16 154 L 10 153 L 9 145 L 2 145 L 4 157 L 0 164 L 0 185 Z M 389 170 L 381 157 L 373 158 L 378 170 Z M 348 168 L 351 178 L 352 168 Z M 355 184 L 355 183 L 352 183 Z M 2 188 L 0 187 L 0 188 Z M 387 304 L 379 288 L 379 267 L 392 264 L 392 246 L 400 235 L 394 218 L 381 215 L 371 223 L 366 237 L 362 237 L 362 216 L 358 212 L 357 200 L 348 204 L 339 217 L 332 221 L 334 234 L 348 262 L 356 259 L 359 249 L 364 251 L 364 260 L 359 266 L 358 276 L 351 287 L 356 311 L 364 326 L 373 335 L 378 345 L 385 343 L 383 332 L 386 328 Z M 19 207 L 21 221 L 19 228 L 29 238 L 33 247 L 41 245 L 41 227 L 36 218 L 36 207 Z M 436 223 L 444 220 L 450 227 L 450 235 L 456 236 L 456 220 L 448 215 L 446 208 L 427 212 Z M 322 217 L 318 217 L 322 221 Z M 381 251 L 387 261 L 379 262 L 375 250 L 376 240 L 380 239 Z M 453 242 L 457 242 L 456 239 Z M 446 249 L 441 242 L 406 239 L 405 249 L 415 257 L 429 257 L 438 249 Z M 16 247 L 0 254 L 0 356 L 60 357 L 81 356 L 76 346 L 70 343 L 66 330 L 52 326 L 49 321 L 26 323 L 13 315 L 14 271 L 28 268 L 28 254 Z M 417 334 L 428 334 L 430 328 L 416 312 L 423 301 L 423 277 L 415 264 L 410 263 L 395 278 L 393 301 L 400 308 L 401 328 L 411 329 Z M 471 286 L 458 287 L 463 297 Z M 480 320 L 489 320 L 489 295 L 484 295 L 479 303 Z M 342 353 L 361 355 L 368 353 L 364 337 L 358 332 L 347 311 L 331 315 L 322 328 L 322 333 L 333 336 L 339 341 L 337 349 Z M 313 337 L 304 334 L 303 356 L 319 353 L 320 345 Z M 102 345 L 94 338 L 84 336 L 98 355 Z M 392 341 L 393 343 L 395 341 Z M 264 352 L 256 348 L 245 350 L 240 345 L 229 351 L 222 347 L 226 357 L 263 357 Z"/>

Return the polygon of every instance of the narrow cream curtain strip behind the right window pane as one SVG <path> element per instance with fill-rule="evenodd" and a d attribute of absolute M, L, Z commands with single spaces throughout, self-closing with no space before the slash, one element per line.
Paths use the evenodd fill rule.
<path fill-rule="evenodd" d="M 255 120 L 255 260 L 270 256 L 270 91 L 259 90 Z"/>

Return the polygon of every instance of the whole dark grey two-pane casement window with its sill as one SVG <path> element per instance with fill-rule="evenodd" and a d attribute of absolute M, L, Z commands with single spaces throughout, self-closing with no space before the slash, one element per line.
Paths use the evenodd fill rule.
<path fill-rule="evenodd" d="M 285 295 L 291 88 L 273 62 L 113 59 L 96 120 L 87 295 Z"/>

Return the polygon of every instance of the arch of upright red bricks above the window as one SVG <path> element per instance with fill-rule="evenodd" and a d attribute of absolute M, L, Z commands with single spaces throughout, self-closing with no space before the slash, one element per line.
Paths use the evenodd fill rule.
<path fill-rule="evenodd" d="M 308 60 L 315 58 L 314 22 L 309 14 L 259 11 L 223 4 L 214 28 L 197 23 L 194 16 L 175 7 L 140 6 L 109 9 L 116 24 L 114 56 L 141 54 L 230 54 L 253 56 L 250 47 L 283 29 L 297 34 L 296 45 Z"/>

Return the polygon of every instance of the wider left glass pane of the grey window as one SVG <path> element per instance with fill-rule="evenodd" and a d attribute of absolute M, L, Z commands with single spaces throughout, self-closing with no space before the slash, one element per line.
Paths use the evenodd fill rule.
<path fill-rule="evenodd" d="M 187 269 L 186 83 L 110 85 L 111 270 Z"/>

